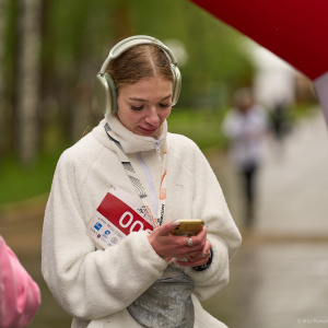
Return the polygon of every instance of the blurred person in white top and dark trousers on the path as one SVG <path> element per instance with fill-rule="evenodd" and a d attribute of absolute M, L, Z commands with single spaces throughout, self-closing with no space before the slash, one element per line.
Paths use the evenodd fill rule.
<path fill-rule="evenodd" d="M 253 91 L 243 87 L 234 94 L 234 107 L 223 120 L 223 133 L 230 140 L 231 157 L 243 178 L 246 201 L 245 225 L 251 227 L 256 204 L 256 175 L 263 155 L 268 115 L 255 104 Z"/>

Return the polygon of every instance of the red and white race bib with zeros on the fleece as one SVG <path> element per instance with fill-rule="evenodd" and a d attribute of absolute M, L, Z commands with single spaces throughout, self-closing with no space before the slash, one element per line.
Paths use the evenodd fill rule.
<path fill-rule="evenodd" d="M 103 248 L 117 245 L 131 232 L 153 231 L 142 201 L 119 188 L 105 196 L 86 227 L 87 235 Z"/>

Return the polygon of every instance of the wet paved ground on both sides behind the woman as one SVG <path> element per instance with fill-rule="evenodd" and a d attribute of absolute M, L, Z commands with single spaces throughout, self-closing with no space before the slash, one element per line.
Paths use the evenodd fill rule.
<path fill-rule="evenodd" d="M 244 241 L 231 262 L 230 284 L 203 306 L 231 328 L 328 327 L 328 138 L 321 112 L 300 122 L 283 145 L 268 140 L 251 231 L 243 227 L 243 199 L 230 162 L 214 151 L 208 159 Z M 71 319 L 40 274 L 44 202 L 0 212 L 1 234 L 42 289 L 30 327 L 65 328 Z"/>

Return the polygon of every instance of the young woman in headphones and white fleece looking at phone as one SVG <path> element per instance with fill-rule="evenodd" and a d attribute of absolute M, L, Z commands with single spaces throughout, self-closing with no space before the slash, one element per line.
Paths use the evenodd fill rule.
<path fill-rule="evenodd" d="M 73 316 L 72 327 L 225 327 L 199 300 L 227 283 L 241 235 L 203 154 L 167 132 L 180 85 L 173 52 L 155 38 L 130 37 L 110 50 L 97 81 L 105 118 L 61 155 L 46 209 L 49 289 Z M 126 203 L 143 204 L 153 230 L 117 242 L 114 230 L 97 234 L 99 222 L 89 229 L 104 209 L 115 221 L 116 200 L 104 199 L 114 189 L 129 195 L 120 199 Z M 132 222 L 122 221 L 126 213 L 122 231 Z M 180 219 L 206 226 L 196 236 L 174 236 Z M 107 236 L 113 246 L 102 247 L 96 241 Z"/>

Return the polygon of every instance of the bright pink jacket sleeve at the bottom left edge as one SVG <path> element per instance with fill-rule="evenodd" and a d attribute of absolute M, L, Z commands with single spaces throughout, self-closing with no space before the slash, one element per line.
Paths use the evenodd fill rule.
<path fill-rule="evenodd" d="M 0 236 L 0 323 L 3 328 L 27 327 L 40 304 L 38 285 Z"/>

